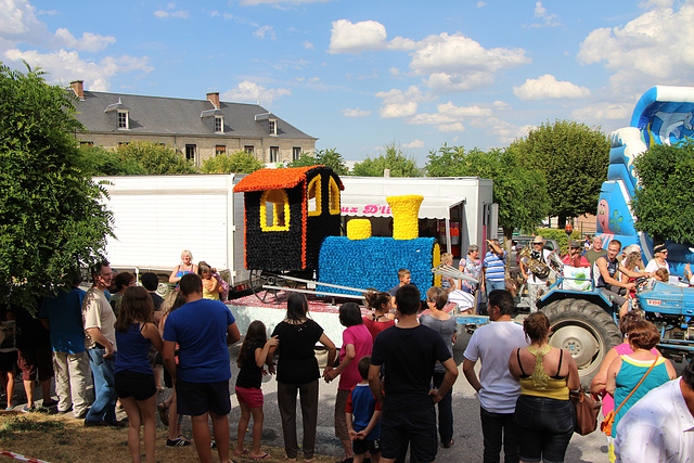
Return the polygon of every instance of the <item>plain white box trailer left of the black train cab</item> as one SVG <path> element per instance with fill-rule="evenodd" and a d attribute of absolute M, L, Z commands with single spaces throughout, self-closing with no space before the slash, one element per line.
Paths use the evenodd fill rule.
<path fill-rule="evenodd" d="M 233 187 L 245 173 L 113 176 L 105 180 L 115 239 L 106 243 L 111 266 L 136 272 L 170 272 L 189 249 L 232 287 L 245 284 L 243 194 Z"/>

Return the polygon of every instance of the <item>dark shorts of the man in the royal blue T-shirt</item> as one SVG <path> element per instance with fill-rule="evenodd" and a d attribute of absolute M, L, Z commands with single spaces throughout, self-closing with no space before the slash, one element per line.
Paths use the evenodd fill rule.
<path fill-rule="evenodd" d="M 177 410 L 181 415 L 200 416 L 207 412 L 228 415 L 231 411 L 229 380 L 219 383 L 176 381 Z"/>

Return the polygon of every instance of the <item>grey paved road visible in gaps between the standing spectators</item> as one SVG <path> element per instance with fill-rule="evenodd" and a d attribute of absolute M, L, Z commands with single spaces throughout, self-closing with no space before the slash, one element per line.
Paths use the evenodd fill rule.
<path fill-rule="evenodd" d="M 479 401 L 475 390 L 467 384 L 462 372 L 463 351 L 470 335 L 459 337 L 454 346 L 453 353 L 455 363 L 459 365 L 460 375 L 453 387 L 453 411 L 454 411 L 454 439 L 455 443 L 449 449 L 439 449 L 437 462 L 480 462 L 483 460 L 483 438 L 479 422 Z M 236 358 L 239 347 L 231 348 L 232 359 Z M 478 364 L 479 365 L 479 364 Z M 232 368 L 232 377 L 235 378 L 237 369 Z M 233 381 L 232 381 L 233 383 Z M 232 384 L 233 389 L 233 384 Z M 262 432 L 264 443 L 283 447 L 282 427 L 280 424 L 280 413 L 277 407 L 277 382 L 274 378 L 266 378 L 262 384 L 265 393 L 265 429 Z M 335 460 L 340 460 L 342 445 L 334 435 L 333 410 L 337 382 L 331 384 L 321 383 L 320 403 L 318 416 L 318 442 L 317 452 L 334 455 Z M 235 424 L 240 415 L 239 403 L 235 397 L 232 398 L 233 410 L 231 414 L 232 440 L 235 432 Z M 300 416 L 300 411 L 298 412 Z M 300 436 L 300 424 L 299 424 Z M 247 437 L 248 438 L 248 437 Z M 300 437 L 299 437 L 300 441 Z M 607 443 L 603 434 L 595 432 L 589 436 L 574 435 L 566 454 L 567 462 L 606 462 Z"/>

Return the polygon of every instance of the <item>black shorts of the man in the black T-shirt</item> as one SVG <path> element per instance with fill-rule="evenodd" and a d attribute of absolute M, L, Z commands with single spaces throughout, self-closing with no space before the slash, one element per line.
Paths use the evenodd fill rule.
<path fill-rule="evenodd" d="M 387 400 L 387 399 L 386 399 Z M 436 411 L 432 400 L 414 407 L 388 411 L 381 415 L 381 454 L 384 459 L 410 454 L 419 462 L 433 462 L 438 450 Z M 428 403 L 426 403 L 428 401 Z"/>

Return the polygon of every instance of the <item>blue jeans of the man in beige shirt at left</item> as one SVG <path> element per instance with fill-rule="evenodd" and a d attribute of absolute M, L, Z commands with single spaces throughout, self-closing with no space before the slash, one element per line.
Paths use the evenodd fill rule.
<path fill-rule="evenodd" d="M 85 417 L 86 421 L 106 423 L 116 422 L 116 387 L 114 383 L 114 368 L 116 355 L 104 359 L 105 349 L 94 347 L 87 349 L 91 373 L 94 376 L 94 403 Z"/>

